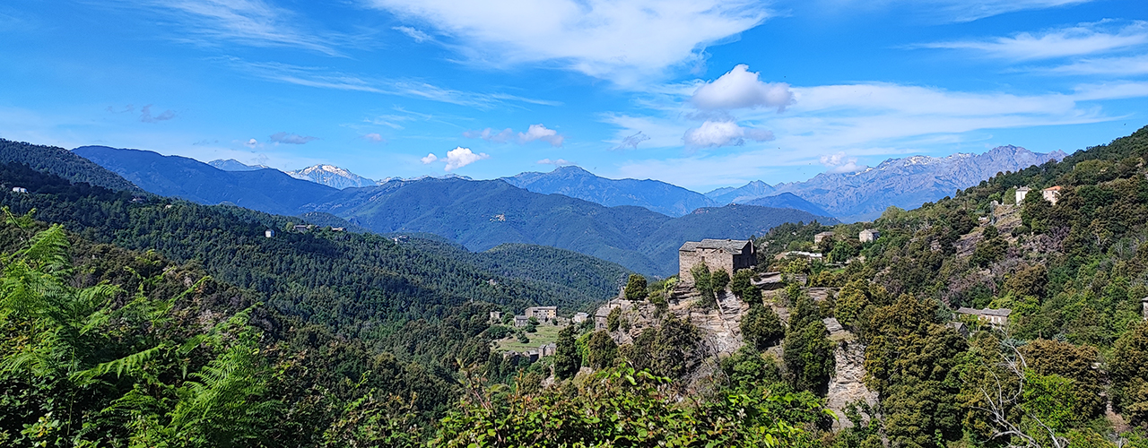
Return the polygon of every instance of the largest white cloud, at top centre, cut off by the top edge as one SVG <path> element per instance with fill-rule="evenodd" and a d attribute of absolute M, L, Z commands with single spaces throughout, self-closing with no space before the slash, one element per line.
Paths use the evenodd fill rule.
<path fill-rule="evenodd" d="M 455 38 L 486 65 L 546 62 L 635 86 L 770 16 L 753 0 L 369 0 Z"/>

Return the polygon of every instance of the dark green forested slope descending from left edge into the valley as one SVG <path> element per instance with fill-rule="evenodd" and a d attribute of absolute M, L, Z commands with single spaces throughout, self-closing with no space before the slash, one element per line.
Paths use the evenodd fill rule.
<path fill-rule="evenodd" d="M 487 309 L 574 309 L 604 298 L 594 288 L 488 272 L 468 264 L 474 256 L 457 247 L 421 250 L 379 235 L 323 228 L 294 233 L 287 229 L 295 218 L 166 198 L 133 202 L 127 192 L 70 184 L 17 164 L 0 166 L 0 179 L 29 186 L 30 194 L 0 192 L 15 214 L 34 210 L 37 220 L 95 242 L 194 262 L 220 281 L 263 294 L 278 312 L 430 363 L 484 361 L 487 344 L 475 337 L 486 328 Z M 279 233 L 265 238 L 266 229 Z"/>

